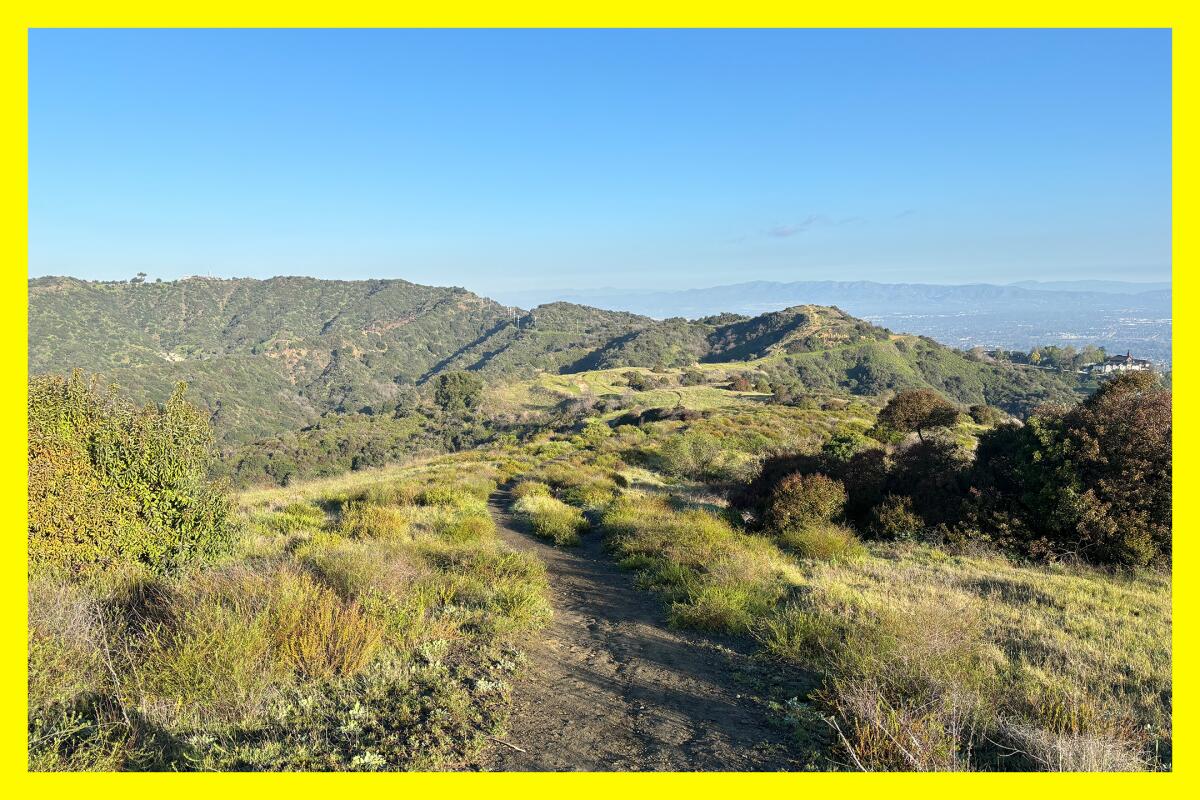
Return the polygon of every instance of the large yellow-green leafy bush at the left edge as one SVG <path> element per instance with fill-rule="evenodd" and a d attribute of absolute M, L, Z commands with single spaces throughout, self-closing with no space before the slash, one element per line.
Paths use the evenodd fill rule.
<path fill-rule="evenodd" d="M 78 371 L 30 383 L 32 565 L 169 570 L 228 548 L 229 499 L 208 477 L 212 434 L 184 391 L 139 409 Z"/>

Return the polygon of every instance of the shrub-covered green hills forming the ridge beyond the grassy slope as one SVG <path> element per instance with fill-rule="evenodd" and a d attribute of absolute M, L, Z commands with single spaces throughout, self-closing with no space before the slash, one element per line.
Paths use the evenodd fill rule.
<path fill-rule="evenodd" d="M 379 413 L 450 371 L 539 372 L 746 362 L 775 384 L 877 395 L 932 387 L 1025 414 L 1078 399 L 1084 378 L 996 363 L 894 335 L 835 307 L 666 319 L 554 302 L 532 311 L 407 281 L 280 277 L 29 282 L 31 373 L 102 373 L 134 401 L 180 380 L 217 434 L 246 441 L 328 413 Z"/>

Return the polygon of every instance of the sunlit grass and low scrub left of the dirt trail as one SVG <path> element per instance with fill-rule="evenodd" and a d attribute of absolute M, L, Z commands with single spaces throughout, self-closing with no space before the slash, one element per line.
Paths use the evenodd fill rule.
<path fill-rule="evenodd" d="M 242 497 L 234 557 L 30 578 L 30 768 L 466 764 L 503 730 L 542 566 L 494 537 L 503 455 Z M 523 467 L 523 464 L 518 464 Z"/>

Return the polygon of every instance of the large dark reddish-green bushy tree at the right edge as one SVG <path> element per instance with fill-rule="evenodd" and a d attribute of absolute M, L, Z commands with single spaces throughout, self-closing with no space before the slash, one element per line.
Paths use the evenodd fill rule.
<path fill-rule="evenodd" d="M 1140 566 L 1171 552 L 1171 393 L 1146 372 L 979 439 L 978 523 L 1034 557 Z"/>

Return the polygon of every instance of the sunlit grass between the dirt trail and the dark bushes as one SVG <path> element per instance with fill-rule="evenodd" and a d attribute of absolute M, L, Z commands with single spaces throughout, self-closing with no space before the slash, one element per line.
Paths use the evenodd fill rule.
<path fill-rule="evenodd" d="M 749 633 L 782 672 L 823 676 L 802 699 L 838 721 L 834 764 L 1170 764 L 1168 576 L 868 549 L 832 525 L 780 549 L 664 494 L 626 494 L 604 523 L 674 624 Z"/>

